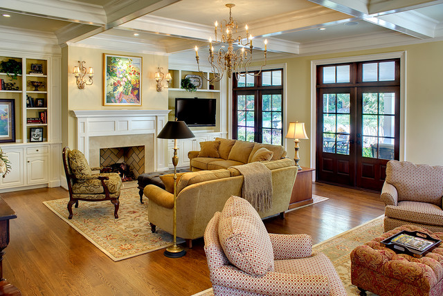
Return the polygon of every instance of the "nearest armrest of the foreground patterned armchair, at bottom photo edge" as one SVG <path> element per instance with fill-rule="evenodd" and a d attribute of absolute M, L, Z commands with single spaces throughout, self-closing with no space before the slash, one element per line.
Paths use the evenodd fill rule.
<path fill-rule="evenodd" d="M 325 275 L 300 275 L 267 272 L 250 275 L 235 266 L 222 266 L 210 272 L 213 286 L 243 290 L 260 295 L 329 295 L 329 282 Z"/>

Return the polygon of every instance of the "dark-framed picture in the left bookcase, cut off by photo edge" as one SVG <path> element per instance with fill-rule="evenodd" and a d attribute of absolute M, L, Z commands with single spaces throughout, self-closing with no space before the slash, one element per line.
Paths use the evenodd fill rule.
<path fill-rule="evenodd" d="M 15 100 L 0 99 L 0 142 L 15 142 Z"/>

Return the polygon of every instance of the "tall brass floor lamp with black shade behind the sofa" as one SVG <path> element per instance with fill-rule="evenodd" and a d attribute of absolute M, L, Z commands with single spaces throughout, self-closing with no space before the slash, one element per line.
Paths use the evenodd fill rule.
<path fill-rule="evenodd" d="M 194 138 L 194 133 L 189 129 L 184 121 L 168 121 L 165 127 L 160 131 L 157 138 L 174 139 L 174 156 L 172 157 L 172 164 L 174 165 L 174 210 L 173 210 L 173 234 L 174 246 L 168 247 L 163 253 L 166 257 L 179 258 L 186 255 L 186 250 L 181 246 L 177 246 L 177 164 L 179 157 L 177 156 L 177 139 Z"/>

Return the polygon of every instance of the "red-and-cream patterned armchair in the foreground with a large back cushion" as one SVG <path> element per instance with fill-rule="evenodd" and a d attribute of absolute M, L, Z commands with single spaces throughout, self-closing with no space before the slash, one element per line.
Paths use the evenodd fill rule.
<path fill-rule="evenodd" d="M 215 295 L 347 295 L 331 261 L 307 234 L 268 234 L 243 198 L 231 196 L 204 234 Z"/>

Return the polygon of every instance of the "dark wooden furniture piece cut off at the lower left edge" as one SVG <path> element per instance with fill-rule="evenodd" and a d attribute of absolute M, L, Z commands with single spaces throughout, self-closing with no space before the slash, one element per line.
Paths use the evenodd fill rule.
<path fill-rule="evenodd" d="M 0 295 L 21 295 L 19 289 L 8 283 L 6 279 L 3 279 L 2 262 L 3 255 L 5 255 L 3 250 L 9 243 L 9 221 L 10 219 L 15 218 L 17 218 L 15 212 L 10 208 L 8 203 L 3 201 L 3 198 L 0 197 Z"/>

